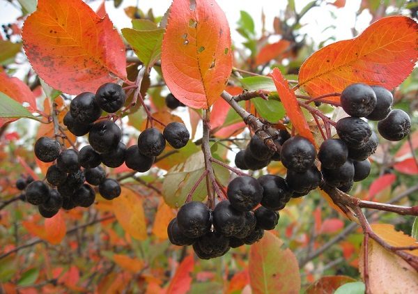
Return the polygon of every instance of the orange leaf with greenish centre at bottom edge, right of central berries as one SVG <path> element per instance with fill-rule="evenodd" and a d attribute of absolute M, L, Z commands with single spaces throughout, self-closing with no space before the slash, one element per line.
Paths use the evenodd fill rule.
<path fill-rule="evenodd" d="M 299 293 L 300 274 L 295 254 L 281 249 L 283 241 L 265 231 L 249 251 L 249 281 L 253 293 Z"/>

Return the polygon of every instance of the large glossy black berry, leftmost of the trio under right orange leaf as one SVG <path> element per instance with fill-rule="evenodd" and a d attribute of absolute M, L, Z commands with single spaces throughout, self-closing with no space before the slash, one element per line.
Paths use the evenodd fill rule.
<path fill-rule="evenodd" d="M 376 94 L 366 84 L 347 86 L 340 97 L 341 107 L 349 116 L 364 117 L 371 114 L 376 107 Z"/>

